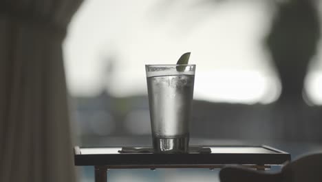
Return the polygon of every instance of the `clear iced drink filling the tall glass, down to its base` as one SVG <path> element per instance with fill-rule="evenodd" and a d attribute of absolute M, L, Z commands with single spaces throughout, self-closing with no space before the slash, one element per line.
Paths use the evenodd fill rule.
<path fill-rule="evenodd" d="M 147 75 L 155 152 L 187 152 L 194 81 L 194 67 Z"/>

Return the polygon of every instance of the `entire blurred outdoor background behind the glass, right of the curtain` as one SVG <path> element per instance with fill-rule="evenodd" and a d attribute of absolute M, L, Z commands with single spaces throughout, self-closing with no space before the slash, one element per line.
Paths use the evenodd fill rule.
<path fill-rule="evenodd" d="M 191 143 L 322 149 L 321 1 L 85 1 L 64 43 L 82 146 L 151 145 L 144 64 L 197 65 Z M 111 181 L 215 181 L 207 170 L 110 170 Z M 84 168 L 81 181 L 92 181 Z"/>

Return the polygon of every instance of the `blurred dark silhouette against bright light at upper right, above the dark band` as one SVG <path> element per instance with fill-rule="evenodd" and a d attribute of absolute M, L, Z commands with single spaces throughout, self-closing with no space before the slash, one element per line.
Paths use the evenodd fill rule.
<path fill-rule="evenodd" d="M 293 0 L 279 6 L 267 39 L 283 87 L 277 102 L 303 103 L 304 78 L 319 37 L 314 1 Z"/>

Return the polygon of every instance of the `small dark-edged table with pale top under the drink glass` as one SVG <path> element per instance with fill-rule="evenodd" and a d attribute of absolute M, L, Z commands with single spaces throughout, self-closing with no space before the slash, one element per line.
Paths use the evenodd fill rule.
<path fill-rule="evenodd" d="M 148 168 L 224 168 L 241 166 L 257 170 L 270 169 L 271 165 L 285 165 L 290 161 L 288 152 L 277 150 L 266 145 L 206 145 L 211 153 L 154 154 L 126 153 L 118 151 L 122 147 L 107 148 L 74 148 L 75 165 L 92 165 L 95 170 L 95 181 L 107 181 L 109 169 Z"/>

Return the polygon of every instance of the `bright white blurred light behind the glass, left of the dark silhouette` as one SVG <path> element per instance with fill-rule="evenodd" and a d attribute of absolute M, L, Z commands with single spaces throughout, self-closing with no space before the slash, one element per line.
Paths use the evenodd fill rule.
<path fill-rule="evenodd" d="M 279 96 L 262 41 L 272 10 L 265 1 L 85 1 L 65 39 L 72 95 L 147 94 L 144 64 L 175 63 L 192 52 L 195 99 L 270 103 Z"/>

